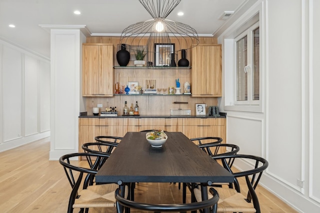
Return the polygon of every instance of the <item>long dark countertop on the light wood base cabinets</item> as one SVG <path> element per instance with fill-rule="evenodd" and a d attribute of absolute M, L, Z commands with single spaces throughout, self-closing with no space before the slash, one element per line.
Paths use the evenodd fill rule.
<path fill-rule="evenodd" d="M 220 112 L 220 116 L 200 116 L 200 115 L 128 115 L 128 116 L 94 116 L 94 115 L 80 115 L 79 118 L 225 118 L 226 113 Z"/>

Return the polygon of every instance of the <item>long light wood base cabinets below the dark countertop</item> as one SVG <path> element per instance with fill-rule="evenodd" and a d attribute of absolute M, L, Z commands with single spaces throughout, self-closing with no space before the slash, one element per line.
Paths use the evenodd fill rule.
<path fill-rule="evenodd" d="M 79 152 L 95 136 L 123 137 L 126 132 L 151 129 L 182 132 L 188 138 L 220 137 L 223 143 L 226 137 L 225 118 L 79 118 Z"/>

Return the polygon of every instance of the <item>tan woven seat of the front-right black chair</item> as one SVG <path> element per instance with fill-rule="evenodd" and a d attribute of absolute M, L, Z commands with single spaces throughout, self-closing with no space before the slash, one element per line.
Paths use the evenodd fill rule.
<path fill-rule="evenodd" d="M 234 189 L 214 187 L 219 195 L 217 212 L 241 212 L 255 213 L 252 203 L 246 202 L 246 197 L 237 193 Z M 194 189 L 194 196 L 197 201 L 201 201 L 201 191 Z M 208 198 L 212 195 L 208 193 Z"/>

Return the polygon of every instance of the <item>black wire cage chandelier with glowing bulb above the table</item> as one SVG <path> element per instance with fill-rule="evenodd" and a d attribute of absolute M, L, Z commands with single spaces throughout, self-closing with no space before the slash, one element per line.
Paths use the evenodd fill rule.
<path fill-rule="evenodd" d="M 199 43 L 198 34 L 187 24 L 166 19 L 181 0 L 138 0 L 151 19 L 126 27 L 120 36 L 130 52 L 143 50 L 148 66 L 175 66 L 179 52 Z M 182 53 L 183 54 L 183 53 Z M 174 58 L 176 57 L 176 58 Z"/>

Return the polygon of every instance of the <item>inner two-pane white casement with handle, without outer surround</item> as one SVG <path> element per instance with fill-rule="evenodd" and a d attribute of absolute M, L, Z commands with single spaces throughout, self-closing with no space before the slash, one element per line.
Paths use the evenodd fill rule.
<path fill-rule="evenodd" d="M 260 99 L 259 25 L 253 24 L 234 39 L 234 105 L 258 105 Z"/>

